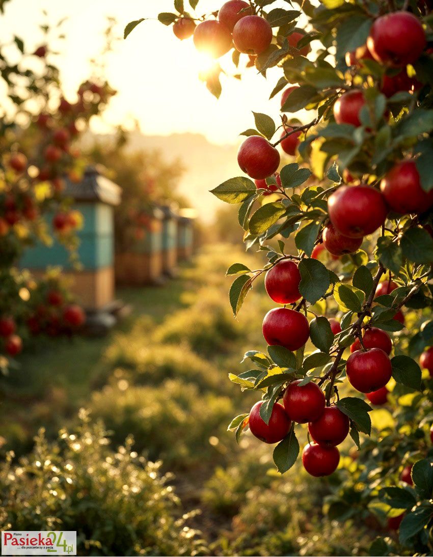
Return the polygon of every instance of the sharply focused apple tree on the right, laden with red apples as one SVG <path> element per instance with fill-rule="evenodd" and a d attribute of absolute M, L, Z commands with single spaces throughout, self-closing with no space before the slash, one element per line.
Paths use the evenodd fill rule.
<path fill-rule="evenodd" d="M 276 304 L 263 320 L 266 350 L 248 351 L 251 369 L 230 375 L 258 401 L 229 429 L 239 439 L 249 427 L 276 444 L 281 473 L 298 458 L 312 476 L 340 463 L 329 516 L 373 517 L 377 527 L 398 530 L 378 538 L 372 554 L 430 554 L 431 6 L 273 4 L 216 2 L 202 15 L 200 2 L 186 8 L 176 0 L 173 13 L 159 14 L 216 60 L 231 52 L 240 74 L 253 66 L 265 77 L 280 72 L 270 85 L 271 97 L 282 92 L 280 121 L 254 113 L 241 133 L 242 174 L 212 190 L 239 204 L 246 247 L 264 255 L 262 268 L 235 262 L 227 270 L 233 313 L 262 278 Z M 206 77 L 216 96 L 226 58 Z M 306 123 L 293 117 L 301 109 L 313 115 Z M 281 151 L 291 157 L 283 164 Z M 371 435 L 378 407 L 373 421 L 378 412 L 382 421 Z M 340 459 L 347 436 L 355 450 Z"/>

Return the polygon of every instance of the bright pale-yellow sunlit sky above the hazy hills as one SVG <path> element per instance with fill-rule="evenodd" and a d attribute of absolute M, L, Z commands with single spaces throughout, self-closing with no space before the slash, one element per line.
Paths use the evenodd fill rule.
<path fill-rule="evenodd" d="M 223 0 L 200 0 L 197 14 L 214 11 Z M 187 4 L 187 0 L 185 0 Z M 287 6 L 281 2 L 273 7 Z M 157 21 L 159 12 L 173 11 L 172 0 L 11 0 L 0 17 L 2 42 L 21 36 L 28 48 L 41 42 L 38 25 L 67 17 L 63 27 L 66 41 L 59 56 L 51 55 L 61 69 L 66 96 L 74 99 L 77 85 L 87 77 L 89 59 L 98 56 L 103 45 L 106 17 L 118 21 L 116 32 L 133 19 L 142 22 L 127 40 L 116 42 L 107 60 L 106 75 L 118 95 L 110 102 L 104 121 L 94 121 L 98 132 L 123 124 L 133 127 L 135 120 L 147 135 L 200 133 L 212 143 L 237 144 L 239 133 L 254 127 L 251 111 L 265 112 L 279 119 L 279 95 L 269 101 L 269 93 L 281 75 L 274 69 L 268 79 L 256 70 L 244 72 L 241 81 L 222 76 L 223 91 L 215 99 L 198 79 L 208 60 L 195 50 L 192 39 L 179 41 L 171 27 Z M 231 54 L 221 65 L 230 71 Z"/>

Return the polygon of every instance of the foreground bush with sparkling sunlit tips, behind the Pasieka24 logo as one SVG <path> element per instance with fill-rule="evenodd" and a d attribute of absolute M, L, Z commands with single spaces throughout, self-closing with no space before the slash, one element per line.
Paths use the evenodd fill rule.
<path fill-rule="evenodd" d="M 198 532 L 179 519 L 178 499 L 159 463 L 113 452 L 87 418 L 48 443 L 43 432 L 18 463 L 0 468 L 2 530 L 76 530 L 79 555 L 206 554 Z"/>

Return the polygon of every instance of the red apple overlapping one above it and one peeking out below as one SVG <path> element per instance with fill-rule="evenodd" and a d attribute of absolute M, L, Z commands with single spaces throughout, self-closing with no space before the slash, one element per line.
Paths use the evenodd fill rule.
<path fill-rule="evenodd" d="M 385 387 L 391 374 L 391 360 L 380 348 L 370 348 L 365 352 L 357 350 L 346 363 L 349 383 L 360 393 L 371 393 Z"/>

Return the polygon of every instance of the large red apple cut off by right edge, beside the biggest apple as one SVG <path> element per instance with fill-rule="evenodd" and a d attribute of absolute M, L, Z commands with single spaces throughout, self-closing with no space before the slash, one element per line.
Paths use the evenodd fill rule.
<path fill-rule="evenodd" d="M 382 179 L 381 192 L 396 213 L 424 213 L 433 205 L 433 191 L 427 193 L 421 188 L 414 160 L 395 164 Z"/>

